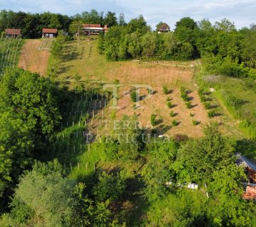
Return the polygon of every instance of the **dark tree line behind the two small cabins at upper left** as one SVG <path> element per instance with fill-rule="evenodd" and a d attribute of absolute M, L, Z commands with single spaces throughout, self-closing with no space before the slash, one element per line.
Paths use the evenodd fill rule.
<path fill-rule="evenodd" d="M 20 28 L 21 35 L 25 38 L 41 38 L 43 28 L 57 28 L 58 30 L 70 31 L 71 23 L 100 23 L 108 26 L 124 25 L 124 13 L 119 14 L 108 11 L 97 12 L 92 9 L 90 12 L 82 12 L 74 16 L 67 16 L 60 13 L 25 13 L 22 11 L 0 11 L 0 33 L 6 28 Z M 76 31 L 77 32 L 77 31 Z M 72 33 L 72 29 L 71 29 Z"/>

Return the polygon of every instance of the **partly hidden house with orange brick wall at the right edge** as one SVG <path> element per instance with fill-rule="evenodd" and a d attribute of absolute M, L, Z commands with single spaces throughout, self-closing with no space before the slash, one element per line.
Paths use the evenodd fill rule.
<path fill-rule="evenodd" d="M 237 157 L 237 164 L 245 168 L 245 173 L 248 177 L 248 182 L 242 183 L 245 188 L 245 193 L 242 197 L 244 199 L 256 199 L 256 164 L 240 154 Z"/>

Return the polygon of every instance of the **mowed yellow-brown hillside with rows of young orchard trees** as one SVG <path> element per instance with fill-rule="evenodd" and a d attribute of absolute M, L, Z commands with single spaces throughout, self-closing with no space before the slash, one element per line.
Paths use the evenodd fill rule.
<path fill-rule="evenodd" d="M 73 40 L 65 44 L 63 59 L 58 66 L 58 79 L 68 80 L 71 82 L 71 87 L 76 74 L 82 81 L 89 83 L 112 84 L 115 79 L 118 79 L 120 84 L 119 109 L 110 109 L 110 102 L 104 110 L 105 118 L 108 120 L 113 119 L 113 115 L 114 119 L 118 120 L 124 114 L 137 114 L 142 126 L 151 129 L 150 116 L 157 114 L 158 124 L 154 127 L 157 133 L 171 136 L 185 134 L 190 137 L 203 135 L 201 127 L 203 124 L 218 121 L 223 123 L 221 130 L 227 135 L 241 136 L 236 123 L 228 118 L 225 111 L 222 116 L 208 118 L 208 111 L 201 103 L 196 84 L 193 82 L 195 65 L 196 62 L 151 62 L 147 64 L 137 61 L 108 62 L 105 56 L 97 51 L 97 39 L 80 40 L 79 43 Z M 149 86 L 154 91 L 150 98 L 144 99 L 143 97 L 147 95 L 146 88 L 139 89 L 142 97 L 139 107 L 134 106 L 129 96 L 134 84 Z M 171 92 L 167 95 L 163 94 L 163 86 L 167 86 Z M 191 109 L 188 109 L 185 101 L 181 99 L 179 91 L 181 86 L 191 91 L 188 94 L 193 106 Z M 171 109 L 167 106 L 167 99 L 173 104 Z M 176 116 L 171 117 L 171 111 L 174 111 Z M 174 120 L 178 122 L 178 126 L 172 125 Z M 193 126 L 193 120 L 199 122 L 198 126 Z"/>

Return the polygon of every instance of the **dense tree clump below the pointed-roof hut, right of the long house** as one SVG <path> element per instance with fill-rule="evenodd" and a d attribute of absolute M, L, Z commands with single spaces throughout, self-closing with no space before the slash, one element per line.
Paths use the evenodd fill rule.
<path fill-rule="evenodd" d="M 174 33 L 156 33 L 146 25 L 143 16 L 134 18 L 126 26 L 115 26 L 100 39 L 100 52 L 108 60 L 136 57 L 157 57 L 163 60 L 190 60 L 198 57 L 195 34 L 197 24 L 191 18 L 176 23 Z"/>

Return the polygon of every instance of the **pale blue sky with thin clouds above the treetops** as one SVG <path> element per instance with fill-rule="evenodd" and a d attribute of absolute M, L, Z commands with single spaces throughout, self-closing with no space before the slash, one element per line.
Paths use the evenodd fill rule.
<path fill-rule="evenodd" d="M 238 28 L 256 23 L 255 0 L 0 0 L 0 9 L 31 13 L 50 11 L 69 16 L 96 9 L 123 12 L 127 21 L 142 14 L 152 28 L 159 21 L 174 28 L 176 21 L 184 16 L 196 21 L 208 18 L 212 22 L 228 18 Z"/>

